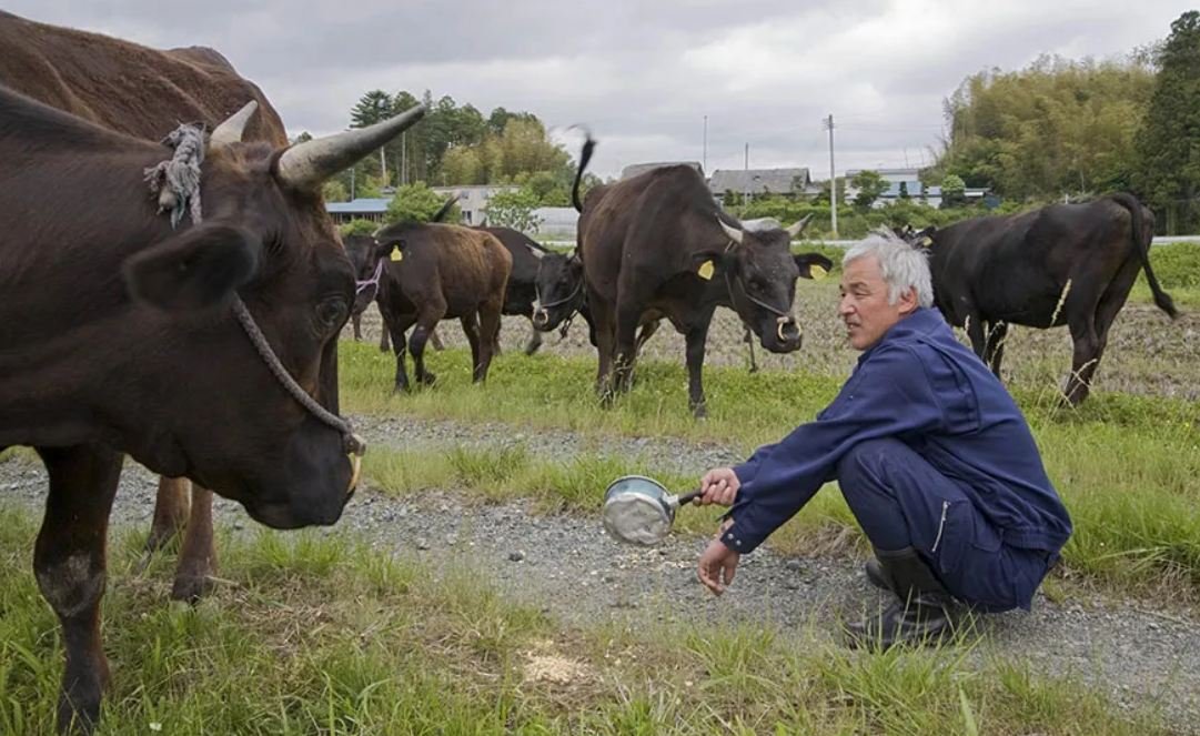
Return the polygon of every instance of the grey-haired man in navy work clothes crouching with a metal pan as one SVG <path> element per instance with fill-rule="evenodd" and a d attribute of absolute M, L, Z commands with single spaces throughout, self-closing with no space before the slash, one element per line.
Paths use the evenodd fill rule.
<path fill-rule="evenodd" d="M 937 636 L 967 609 L 1030 608 L 1070 519 L 1020 409 L 932 304 L 922 250 L 883 232 L 850 249 L 838 311 L 863 351 L 850 379 L 815 421 L 701 481 L 700 503 L 732 505 L 700 557 L 713 593 L 836 479 L 875 549 L 868 578 L 898 598 L 846 627 L 852 646 Z"/>

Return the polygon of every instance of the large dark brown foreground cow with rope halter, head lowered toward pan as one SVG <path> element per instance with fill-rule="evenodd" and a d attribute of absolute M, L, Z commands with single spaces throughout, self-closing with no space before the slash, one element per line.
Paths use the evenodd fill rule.
<path fill-rule="evenodd" d="M 335 522 L 356 483 L 336 342 L 354 273 L 320 186 L 424 108 L 286 150 L 242 143 L 245 112 L 206 145 L 203 219 L 175 229 L 158 210 L 187 192 L 154 197 L 145 172 L 176 151 L 0 86 L 0 448 L 49 475 L 34 569 L 62 627 L 61 730 L 91 730 L 108 682 L 122 453 L 276 528 Z"/>

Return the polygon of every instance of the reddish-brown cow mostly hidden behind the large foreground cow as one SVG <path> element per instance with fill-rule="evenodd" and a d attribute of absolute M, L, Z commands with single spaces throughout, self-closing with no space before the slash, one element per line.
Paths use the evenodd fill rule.
<path fill-rule="evenodd" d="M 210 48 L 166 52 L 119 38 L 0 14 L 0 79 L 13 90 L 110 130 L 160 140 L 181 121 L 212 130 L 247 101 L 258 114 L 242 140 L 287 145 L 278 114 L 257 85 Z M 191 491 L 191 492 L 190 492 Z M 199 598 L 216 570 L 212 493 L 186 478 L 162 478 L 146 551 L 186 529 L 172 598 Z"/>

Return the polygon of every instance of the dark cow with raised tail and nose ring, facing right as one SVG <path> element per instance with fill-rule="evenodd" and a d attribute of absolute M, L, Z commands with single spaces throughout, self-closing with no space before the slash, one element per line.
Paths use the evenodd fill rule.
<path fill-rule="evenodd" d="M 581 204 L 578 185 L 594 145 L 589 138 L 583 146 L 572 201 L 580 210 L 580 263 L 599 352 L 596 389 L 605 399 L 629 389 L 638 325 L 666 318 L 686 339 L 689 405 L 703 417 L 704 342 L 722 300 L 766 349 L 800 347 L 791 310 L 802 274 L 790 243 L 804 225 L 743 229 L 688 166 L 596 186 Z"/>

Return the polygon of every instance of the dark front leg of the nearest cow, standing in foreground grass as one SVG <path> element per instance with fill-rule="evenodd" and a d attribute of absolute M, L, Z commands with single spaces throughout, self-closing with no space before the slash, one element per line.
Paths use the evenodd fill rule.
<path fill-rule="evenodd" d="M 38 448 L 50 477 L 46 517 L 34 547 L 34 574 L 62 626 L 66 668 L 59 692 L 59 731 L 91 732 L 108 687 L 100 639 L 108 513 L 121 475 L 121 454 L 100 445 Z"/>

